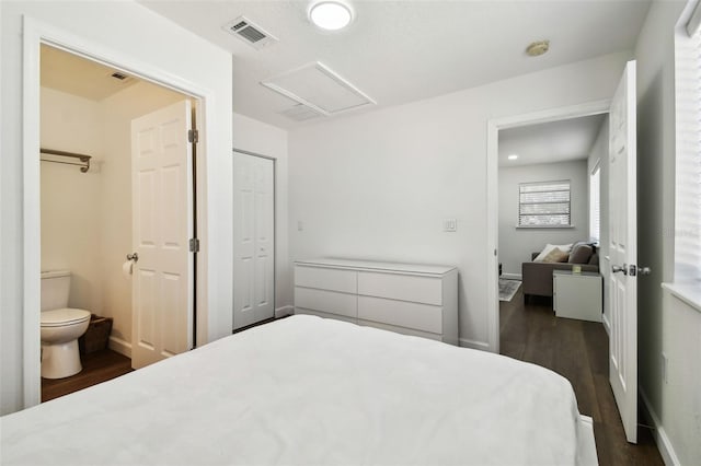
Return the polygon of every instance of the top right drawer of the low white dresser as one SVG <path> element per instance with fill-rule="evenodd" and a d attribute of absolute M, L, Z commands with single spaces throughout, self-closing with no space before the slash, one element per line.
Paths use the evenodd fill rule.
<path fill-rule="evenodd" d="M 358 294 L 441 305 L 443 280 L 434 277 L 359 271 Z"/>

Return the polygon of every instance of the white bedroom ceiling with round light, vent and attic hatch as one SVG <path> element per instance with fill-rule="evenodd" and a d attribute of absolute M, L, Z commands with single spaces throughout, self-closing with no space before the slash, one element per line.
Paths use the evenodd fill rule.
<path fill-rule="evenodd" d="M 309 1 L 141 0 L 233 55 L 233 109 L 283 127 L 311 125 L 281 112 L 295 102 L 261 81 L 320 61 L 377 102 L 345 114 L 404 104 L 600 55 L 631 50 L 648 0 L 358 1 L 355 21 L 323 32 Z M 222 30 L 245 15 L 279 42 L 261 50 Z M 528 57 L 533 40 L 547 55 Z"/>

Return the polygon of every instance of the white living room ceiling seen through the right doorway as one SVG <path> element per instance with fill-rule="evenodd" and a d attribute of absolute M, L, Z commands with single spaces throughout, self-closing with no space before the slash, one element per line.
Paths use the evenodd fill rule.
<path fill-rule="evenodd" d="M 587 159 L 606 114 L 499 131 L 499 167 Z M 509 154 L 518 159 L 510 161 Z"/>

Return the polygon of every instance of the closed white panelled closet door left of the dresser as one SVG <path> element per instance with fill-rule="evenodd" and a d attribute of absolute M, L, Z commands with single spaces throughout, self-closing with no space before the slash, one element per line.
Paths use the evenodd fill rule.
<path fill-rule="evenodd" d="M 275 167 L 233 153 L 233 329 L 275 315 Z"/>

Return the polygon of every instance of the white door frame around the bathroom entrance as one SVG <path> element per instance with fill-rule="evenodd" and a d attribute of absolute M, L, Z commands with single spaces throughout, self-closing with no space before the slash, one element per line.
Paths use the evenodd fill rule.
<path fill-rule="evenodd" d="M 186 94 L 196 101 L 195 117 L 200 137 L 197 147 L 198 170 L 196 171 L 194 194 L 198 200 L 198 211 L 193 221 L 199 237 L 207 237 L 207 186 L 206 162 L 207 130 L 214 121 L 210 106 L 211 91 L 196 83 L 169 73 L 128 54 L 119 53 L 81 37 L 67 30 L 56 27 L 39 20 L 23 18 L 23 91 L 22 91 L 22 164 L 23 164 L 23 232 L 24 232 L 24 276 L 23 276 L 23 405 L 28 408 L 39 404 L 41 378 L 41 170 L 39 170 L 39 120 L 41 120 L 41 45 L 46 44 L 78 55 L 88 60 L 124 70 L 153 84 Z M 207 341 L 207 263 L 206 244 L 198 253 L 194 290 L 197 296 L 196 328 L 197 341 Z"/>

